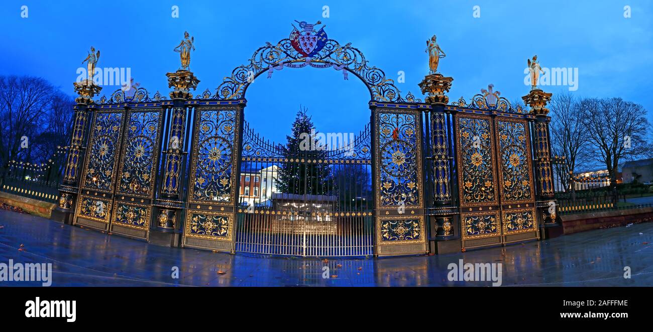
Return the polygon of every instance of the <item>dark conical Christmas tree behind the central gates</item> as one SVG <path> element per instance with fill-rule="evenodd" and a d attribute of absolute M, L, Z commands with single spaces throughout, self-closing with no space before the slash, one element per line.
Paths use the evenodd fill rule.
<path fill-rule="evenodd" d="M 331 169 L 312 160 L 324 160 L 327 151 L 320 148 L 321 142 L 313 136 L 317 130 L 307 112 L 300 106 L 291 128 L 292 136 L 286 136 L 288 142 L 283 154 L 287 161 L 279 166 L 278 190 L 287 194 L 326 195 L 333 188 Z"/>

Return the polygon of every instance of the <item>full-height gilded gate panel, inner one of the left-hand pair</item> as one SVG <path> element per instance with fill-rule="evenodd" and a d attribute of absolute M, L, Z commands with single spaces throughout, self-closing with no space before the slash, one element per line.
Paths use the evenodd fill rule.
<path fill-rule="evenodd" d="M 131 110 L 128 117 L 111 230 L 147 239 L 163 117 L 160 109 Z"/>

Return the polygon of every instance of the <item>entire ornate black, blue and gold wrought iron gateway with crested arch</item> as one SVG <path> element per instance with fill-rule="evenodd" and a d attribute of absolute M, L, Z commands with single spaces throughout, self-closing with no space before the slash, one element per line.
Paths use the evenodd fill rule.
<path fill-rule="evenodd" d="M 171 100 L 139 88 L 94 101 L 101 87 L 75 83 L 61 219 L 173 247 L 296 256 L 455 252 L 556 226 L 550 93 L 531 89 L 528 111 L 491 89 L 448 104 L 453 78 L 432 68 L 426 102 L 402 97 L 360 50 L 311 33 L 257 49 L 215 93 L 191 94 L 189 53 L 167 73 Z M 370 92 L 370 123 L 338 149 L 266 142 L 244 122 L 254 78 L 306 66 Z"/>

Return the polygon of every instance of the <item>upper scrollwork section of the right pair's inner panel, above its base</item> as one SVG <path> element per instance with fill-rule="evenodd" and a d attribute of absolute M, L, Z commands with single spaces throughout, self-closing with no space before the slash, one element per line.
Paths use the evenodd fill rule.
<path fill-rule="evenodd" d="M 496 205 L 496 162 L 489 117 L 456 116 L 458 188 L 461 206 Z"/>

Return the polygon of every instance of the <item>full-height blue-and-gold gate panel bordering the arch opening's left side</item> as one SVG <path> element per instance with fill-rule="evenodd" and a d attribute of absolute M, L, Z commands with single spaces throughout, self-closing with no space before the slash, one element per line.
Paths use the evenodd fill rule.
<path fill-rule="evenodd" d="M 183 245 L 232 251 L 242 110 L 206 106 L 195 113 Z"/>

